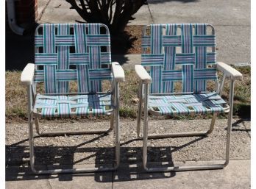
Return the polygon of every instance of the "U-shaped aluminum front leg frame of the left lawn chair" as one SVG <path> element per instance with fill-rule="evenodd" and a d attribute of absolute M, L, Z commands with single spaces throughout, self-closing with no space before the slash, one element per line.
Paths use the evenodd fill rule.
<path fill-rule="evenodd" d="M 114 81 L 115 82 L 115 81 Z M 34 133 L 33 133 L 33 102 L 32 102 L 32 86 L 27 87 L 28 96 L 28 121 L 29 121 L 29 161 L 32 171 L 35 174 L 79 174 L 91 173 L 99 171 L 115 171 L 120 163 L 120 131 L 119 131 L 119 85 L 115 82 L 115 163 L 113 167 L 105 168 L 67 168 L 67 169 L 35 169 L 35 152 L 34 152 Z"/>

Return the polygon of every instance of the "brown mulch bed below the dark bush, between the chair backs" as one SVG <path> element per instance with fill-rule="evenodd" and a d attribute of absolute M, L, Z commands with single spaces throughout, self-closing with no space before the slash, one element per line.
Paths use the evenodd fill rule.
<path fill-rule="evenodd" d="M 126 26 L 120 35 L 111 36 L 113 54 L 141 54 L 141 35 L 143 26 Z"/>

